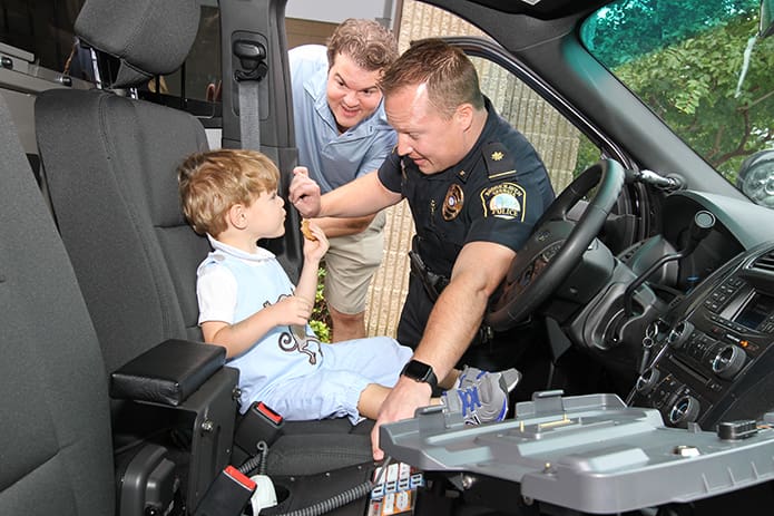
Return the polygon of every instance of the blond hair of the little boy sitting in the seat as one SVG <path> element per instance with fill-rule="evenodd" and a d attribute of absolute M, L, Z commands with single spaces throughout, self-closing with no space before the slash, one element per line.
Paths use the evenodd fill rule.
<path fill-rule="evenodd" d="M 183 213 L 196 233 L 217 237 L 228 227 L 226 214 L 274 192 L 277 166 L 256 150 L 218 149 L 196 153 L 177 168 Z"/>

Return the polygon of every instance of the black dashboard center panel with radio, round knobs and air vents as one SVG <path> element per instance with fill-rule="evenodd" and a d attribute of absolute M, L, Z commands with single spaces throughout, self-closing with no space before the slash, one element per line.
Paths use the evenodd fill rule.
<path fill-rule="evenodd" d="M 646 339 L 658 351 L 633 405 L 658 409 L 669 426 L 760 418 L 774 407 L 774 251 L 733 260 L 669 313 Z"/>

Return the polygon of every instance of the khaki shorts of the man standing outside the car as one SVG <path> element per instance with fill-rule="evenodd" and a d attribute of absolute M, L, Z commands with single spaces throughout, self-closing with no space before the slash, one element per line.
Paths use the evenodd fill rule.
<path fill-rule="evenodd" d="M 330 238 L 324 291 L 329 306 L 347 314 L 365 311 L 371 278 L 382 263 L 385 220 L 380 212 L 362 233 Z"/>

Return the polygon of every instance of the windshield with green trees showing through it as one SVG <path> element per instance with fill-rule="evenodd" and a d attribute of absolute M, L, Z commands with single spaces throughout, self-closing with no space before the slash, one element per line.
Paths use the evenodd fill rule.
<path fill-rule="evenodd" d="M 754 202 L 774 207 L 774 38 L 760 0 L 625 0 L 592 13 L 589 51 Z"/>

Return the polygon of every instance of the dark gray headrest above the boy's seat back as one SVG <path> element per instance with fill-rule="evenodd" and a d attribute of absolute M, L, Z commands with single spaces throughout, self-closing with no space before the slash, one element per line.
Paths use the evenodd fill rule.
<path fill-rule="evenodd" d="M 196 0 L 87 0 L 75 29 L 85 43 L 120 61 L 110 86 L 125 88 L 177 70 L 194 43 L 199 16 Z"/>

